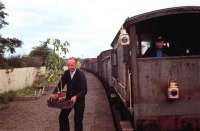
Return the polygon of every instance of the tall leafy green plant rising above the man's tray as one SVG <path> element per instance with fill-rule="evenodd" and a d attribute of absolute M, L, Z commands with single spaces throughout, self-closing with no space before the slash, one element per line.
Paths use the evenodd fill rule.
<path fill-rule="evenodd" d="M 67 41 L 61 42 L 59 39 L 48 38 L 43 42 L 43 45 L 53 46 L 53 50 L 49 52 L 45 62 L 47 80 L 51 83 L 58 82 L 61 74 L 63 73 L 64 65 L 64 62 L 61 59 L 61 55 L 66 55 L 68 52 L 67 46 L 69 46 L 69 43 Z"/>

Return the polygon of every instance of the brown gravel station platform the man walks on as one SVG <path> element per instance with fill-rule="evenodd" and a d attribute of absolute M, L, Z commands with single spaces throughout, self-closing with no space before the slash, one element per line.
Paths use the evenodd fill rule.
<path fill-rule="evenodd" d="M 115 131 L 115 125 L 102 83 L 85 72 L 88 84 L 84 131 Z M 13 101 L 0 110 L 0 131 L 58 131 L 60 109 L 47 106 L 48 95 L 28 101 Z M 70 113 L 70 127 L 74 131 L 74 112 Z"/>

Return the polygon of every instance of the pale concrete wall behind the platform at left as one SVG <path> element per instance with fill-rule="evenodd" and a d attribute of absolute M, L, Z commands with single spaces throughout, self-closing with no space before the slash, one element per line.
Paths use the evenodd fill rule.
<path fill-rule="evenodd" d="M 0 93 L 32 86 L 37 72 L 45 73 L 45 68 L 26 67 L 8 71 L 0 70 Z"/>

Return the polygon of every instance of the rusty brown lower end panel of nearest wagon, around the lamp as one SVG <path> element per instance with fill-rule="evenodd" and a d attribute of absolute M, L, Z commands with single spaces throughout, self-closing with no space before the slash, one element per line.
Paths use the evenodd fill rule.
<path fill-rule="evenodd" d="M 154 119 L 154 124 L 157 122 L 161 129 L 181 130 L 183 128 L 182 122 L 187 120 L 187 125 L 199 129 L 199 57 L 161 58 L 157 60 L 141 58 L 137 60 L 139 91 L 134 108 L 135 117 L 140 119 L 138 121 L 152 121 Z M 170 80 L 175 80 L 178 84 L 179 97 L 177 99 L 169 99 Z"/>

